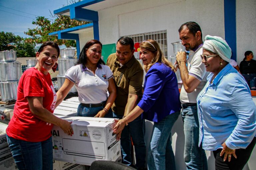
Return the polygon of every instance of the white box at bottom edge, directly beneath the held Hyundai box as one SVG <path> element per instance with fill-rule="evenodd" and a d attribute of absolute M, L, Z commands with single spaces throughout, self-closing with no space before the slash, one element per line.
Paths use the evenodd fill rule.
<path fill-rule="evenodd" d="M 85 165 L 53 160 L 53 170 L 85 170 Z"/>

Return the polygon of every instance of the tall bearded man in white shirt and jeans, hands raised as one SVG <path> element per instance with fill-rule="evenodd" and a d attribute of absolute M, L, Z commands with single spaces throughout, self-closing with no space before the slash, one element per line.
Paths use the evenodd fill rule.
<path fill-rule="evenodd" d="M 176 61 L 180 69 L 182 88 L 180 91 L 181 116 L 184 122 L 185 148 L 184 160 L 187 169 L 207 169 L 207 158 L 202 146 L 198 147 L 199 121 L 196 98 L 207 80 L 206 68 L 202 63 L 202 31 L 195 22 L 182 24 L 179 29 L 182 45 L 189 51 L 188 60 L 185 52 L 178 52 Z"/>

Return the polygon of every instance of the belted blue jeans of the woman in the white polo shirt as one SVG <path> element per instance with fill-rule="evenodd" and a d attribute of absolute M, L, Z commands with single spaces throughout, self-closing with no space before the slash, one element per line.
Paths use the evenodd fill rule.
<path fill-rule="evenodd" d="M 82 117 L 94 117 L 97 113 L 103 110 L 104 106 L 100 107 L 85 107 L 82 106 L 81 103 L 78 105 L 77 108 L 77 116 Z M 104 118 L 112 118 L 112 110 L 109 109 L 109 112 L 104 116 Z"/>

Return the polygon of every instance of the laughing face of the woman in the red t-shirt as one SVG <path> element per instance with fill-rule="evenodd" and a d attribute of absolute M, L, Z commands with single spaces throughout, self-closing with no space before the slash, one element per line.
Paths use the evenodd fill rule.
<path fill-rule="evenodd" d="M 41 52 L 36 53 L 36 58 L 38 59 L 36 68 L 47 75 L 58 60 L 58 51 L 56 48 L 47 45 Z"/>

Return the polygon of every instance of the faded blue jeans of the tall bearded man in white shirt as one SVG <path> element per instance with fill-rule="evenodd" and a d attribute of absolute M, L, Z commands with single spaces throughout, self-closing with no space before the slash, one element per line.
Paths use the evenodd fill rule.
<path fill-rule="evenodd" d="M 207 170 L 207 158 L 202 145 L 198 147 L 199 142 L 199 122 L 197 107 L 189 106 L 181 110 L 181 116 L 184 122 L 185 148 L 184 160 L 187 169 Z"/>

